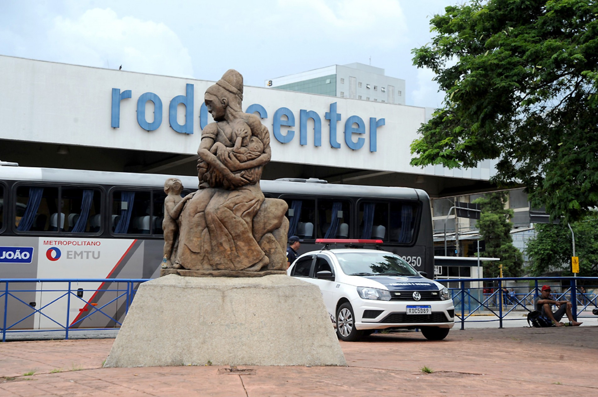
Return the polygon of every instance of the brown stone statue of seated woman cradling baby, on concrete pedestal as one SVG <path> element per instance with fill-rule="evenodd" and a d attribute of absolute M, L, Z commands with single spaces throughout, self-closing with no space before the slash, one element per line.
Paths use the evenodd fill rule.
<path fill-rule="evenodd" d="M 243 76 L 236 70 L 228 70 L 206 90 L 205 103 L 215 122 L 203 129 L 197 150 L 199 190 L 180 200 L 178 235 L 167 237 L 164 229 L 164 255 L 167 244 L 176 248 L 162 275 L 286 273 L 288 207 L 283 200 L 264 198 L 260 189 L 271 157 L 270 133 L 258 116 L 243 113 L 242 99 Z"/>

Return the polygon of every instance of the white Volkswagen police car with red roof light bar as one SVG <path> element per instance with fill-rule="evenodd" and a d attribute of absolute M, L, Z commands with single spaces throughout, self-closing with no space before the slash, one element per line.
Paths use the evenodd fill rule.
<path fill-rule="evenodd" d="M 298 257 L 287 273 L 318 285 L 342 340 L 385 328 L 419 328 L 429 340 L 441 340 L 453 328 L 449 290 L 401 257 L 377 249 L 329 249 L 331 244 L 379 245 L 382 240 L 318 239 L 316 244 L 325 247 Z"/>

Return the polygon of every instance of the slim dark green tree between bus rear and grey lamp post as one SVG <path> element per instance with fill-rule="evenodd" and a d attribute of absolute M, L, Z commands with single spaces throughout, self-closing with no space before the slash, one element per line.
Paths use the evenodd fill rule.
<path fill-rule="evenodd" d="M 499 264 L 502 264 L 504 277 L 521 275 L 523 255 L 513 245 L 511 237 L 513 210 L 505 208 L 506 201 L 507 193 L 504 192 L 489 193 L 474 201 L 475 204 L 480 204 L 481 209 L 480 220 L 477 221 L 476 226 L 486 242 L 483 256 L 501 258 L 498 262 L 484 264 L 484 277 L 498 277 Z"/>

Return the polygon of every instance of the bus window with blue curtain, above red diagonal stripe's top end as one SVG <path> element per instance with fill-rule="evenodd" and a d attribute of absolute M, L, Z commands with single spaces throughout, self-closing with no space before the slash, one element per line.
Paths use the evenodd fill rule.
<path fill-rule="evenodd" d="M 149 234 L 150 192 L 114 190 L 110 223 L 117 234 Z"/>

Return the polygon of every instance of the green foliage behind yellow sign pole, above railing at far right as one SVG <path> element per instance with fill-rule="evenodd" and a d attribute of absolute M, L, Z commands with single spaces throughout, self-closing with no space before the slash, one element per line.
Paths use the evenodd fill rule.
<path fill-rule="evenodd" d="M 571 224 L 575 233 L 575 254 L 579 257 L 579 276 L 598 275 L 598 217 L 596 214 Z M 561 272 L 571 276 L 573 247 L 566 223 L 536 225 L 536 237 L 527 242 L 527 256 L 532 276 Z"/>

